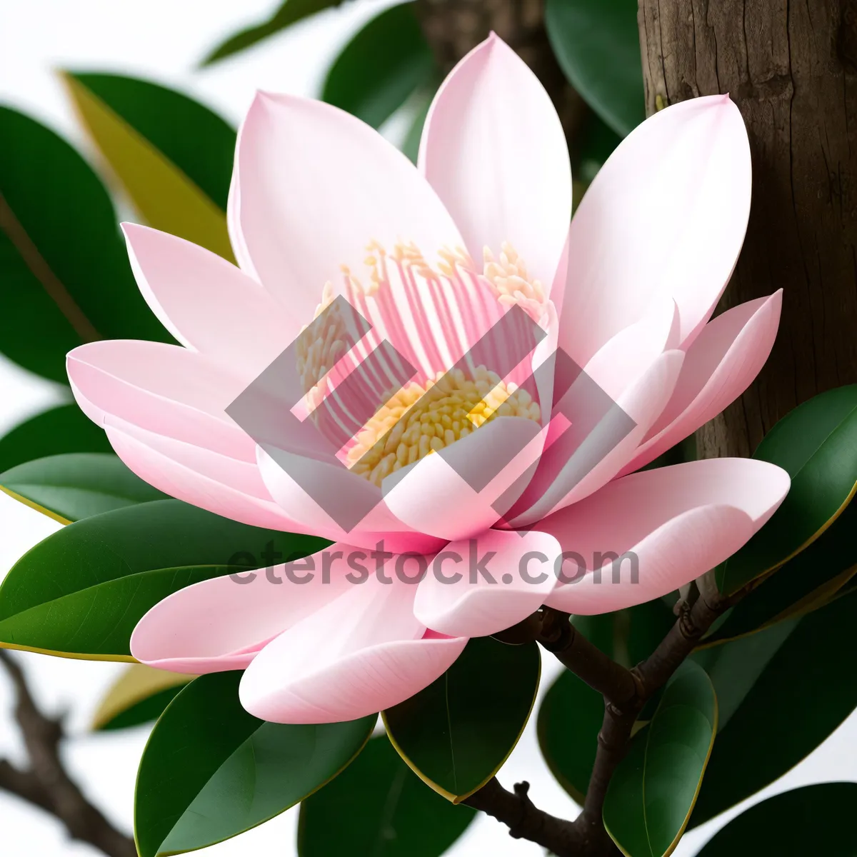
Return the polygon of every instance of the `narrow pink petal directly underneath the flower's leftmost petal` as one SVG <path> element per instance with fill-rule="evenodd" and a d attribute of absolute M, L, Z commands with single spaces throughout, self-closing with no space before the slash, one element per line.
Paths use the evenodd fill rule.
<path fill-rule="evenodd" d="M 302 529 L 267 497 L 254 464 L 119 423 L 114 417 L 108 417 L 105 431 L 129 470 L 177 500 L 243 524 L 326 535 Z"/>

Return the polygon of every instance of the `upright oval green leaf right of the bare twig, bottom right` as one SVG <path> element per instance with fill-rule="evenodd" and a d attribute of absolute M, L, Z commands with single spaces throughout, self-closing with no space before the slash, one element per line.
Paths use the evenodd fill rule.
<path fill-rule="evenodd" d="M 655 716 L 632 739 L 604 800 L 604 826 L 629 857 L 666 857 L 684 833 L 717 729 L 717 698 L 703 668 L 684 662 Z"/>

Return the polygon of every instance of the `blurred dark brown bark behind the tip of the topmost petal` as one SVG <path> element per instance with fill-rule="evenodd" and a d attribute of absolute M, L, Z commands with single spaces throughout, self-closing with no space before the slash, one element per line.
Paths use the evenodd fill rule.
<path fill-rule="evenodd" d="M 494 31 L 542 81 L 566 137 L 576 139 L 587 108 L 566 81 L 548 44 L 544 0 L 417 0 L 416 8 L 442 75 Z"/>

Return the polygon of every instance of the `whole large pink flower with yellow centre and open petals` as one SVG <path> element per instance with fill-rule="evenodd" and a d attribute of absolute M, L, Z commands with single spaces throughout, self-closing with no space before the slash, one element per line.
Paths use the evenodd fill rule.
<path fill-rule="evenodd" d="M 303 584 L 271 585 L 260 573 L 252 584 L 227 577 L 178 591 L 136 627 L 135 657 L 188 673 L 246 668 L 243 704 L 267 720 L 351 719 L 410 697 L 467 638 L 542 603 L 573 614 L 624 608 L 734 553 L 788 491 L 783 470 L 720 458 L 632 471 L 722 411 L 768 357 L 780 292 L 709 321 L 740 252 L 750 190 L 738 110 L 724 96 L 693 99 L 627 137 L 569 229 L 560 122 L 495 37 L 440 88 L 418 168 L 333 107 L 259 94 L 230 200 L 240 267 L 126 225 L 141 291 L 184 347 L 84 345 L 69 354 L 69 378 L 147 482 L 228 518 L 339 543 L 313 558 Z M 369 320 L 370 342 L 386 339 L 417 369 L 415 386 L 344 448 L 347 464 L 360 460 L 353 470 L 286 451 L 346 503 L 369 497 L 372 511 L 347 531 L 225 413 L 335 294 Z M 542 344 L 505 383 L 465 372 L 447 380 L 450 398 L 420 406 L 417 428 L 399 425 L 510 307 L 538 323 Z M 570 423 L 550 423 L 549 373 L 516 387 L 557 345 L 630 417 L 596 456 L 594 441 L 576 437 L 586 414 L 573 402 Z M 307 392 L 316 381 L 327 391 L 323 376 L 339 359 L 332 339 L 320 333 L 302 355 Z M 475 403 L 476 418 L 463 417 Z M 389 428 L 396 443 L 375 447 Z M 495 466 L 522 445 L 512 464 Z M 430 454 L 441 447 L 448 457 Z M 453 459 L 499 472 L 476 490 Z M 623 571 L 614 583 L 609 566 L 598 581 L 595 558 L 609 551 L 636 555 L 636 582 Z M 471 582 L 471 552 L 490 554 L 496 583 Z M 555 568 L 575 554 L 586 573 L 558 580 Z M 444 583 L 433 572 L 451 578 L 456 556 L 465 572 Z M 415 575 L 421 562 L 432 569 L 422 582 L 399 579 L 397 568 Z M 274 572 L 301 578 L 308 566 Z M 361 566 L 368 579 L 352 584 L 345 575 Z M 524 579 L 543 570 L 540 583 Z"/>

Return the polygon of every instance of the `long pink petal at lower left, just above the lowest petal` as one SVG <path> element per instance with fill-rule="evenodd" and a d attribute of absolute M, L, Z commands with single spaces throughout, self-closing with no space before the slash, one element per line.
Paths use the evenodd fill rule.
<path fill-rule="evenodd" d="M 179 673 L 244 668 L 262 645 L 350 588 L 351 549 L 333 544 L 303 560 L 178 590 L 137 623 L 131 654 Z"/>

